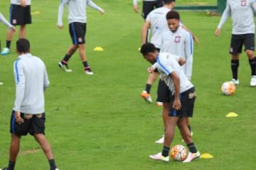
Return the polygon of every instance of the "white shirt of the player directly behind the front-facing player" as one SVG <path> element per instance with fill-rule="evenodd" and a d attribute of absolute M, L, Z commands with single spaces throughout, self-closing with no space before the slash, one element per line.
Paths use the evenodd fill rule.
<path fill-rule="evenodd" d="M 164 33 L 164 31 L 169 30 L 166 20 L 166 13 L 169 11 L 171 11 L 171 9 L 163 6 L 155 8 L 148 16 L 146 16 L 146 21 L 150 23 L 150 28 L 152 30 L 150 42 L 157 48 L 161 47 L 161 34 Z"/>

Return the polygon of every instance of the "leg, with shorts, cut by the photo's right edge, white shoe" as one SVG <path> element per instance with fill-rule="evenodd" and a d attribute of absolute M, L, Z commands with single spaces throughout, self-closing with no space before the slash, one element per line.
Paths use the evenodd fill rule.
<path fill-rule="evenodd" d="M 245 52 L 251 68 L 250 86 L 256 86 L 256 57 L 255 57 L 255 35 L 245 35 Z"/>

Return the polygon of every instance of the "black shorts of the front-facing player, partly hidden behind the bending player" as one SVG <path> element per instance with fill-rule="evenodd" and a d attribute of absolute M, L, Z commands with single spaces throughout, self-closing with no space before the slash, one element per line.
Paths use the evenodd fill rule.
<path fill-rule="evenodd" d="M 157 87 L 157 99 L 163 103 L 171 101 L 171 91 L 169 87 L 165 84 L 164 80 L 159 79 L 159 85 Z"/>

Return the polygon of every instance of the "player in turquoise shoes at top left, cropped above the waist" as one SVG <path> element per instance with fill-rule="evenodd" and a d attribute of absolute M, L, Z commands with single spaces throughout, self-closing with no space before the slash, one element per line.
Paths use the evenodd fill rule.
<path fill-rule="evenodd" d="M 26 25 L 31 24 L 31 0 L 11 0 L 10 23 L 13 26 L 20 26 L 19 38 L 25 38 Z M 9 55 L 11 40 L 14 37 L 14 31 L 8 29 L 6 33 L 6 47 L 1 51 L 1 55 Z"/>

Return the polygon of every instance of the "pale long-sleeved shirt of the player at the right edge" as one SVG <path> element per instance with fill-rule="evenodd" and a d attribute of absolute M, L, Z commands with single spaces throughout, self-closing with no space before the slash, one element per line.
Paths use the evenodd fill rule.
<path fill-rule="evenodd" d="M 222 28 L 228 16 L 231 16 L 232 34 L 255 33 L 254 13 L 256 13 L 255 0 L 228 0 L 218 28 Z"/>

